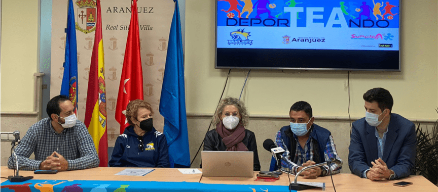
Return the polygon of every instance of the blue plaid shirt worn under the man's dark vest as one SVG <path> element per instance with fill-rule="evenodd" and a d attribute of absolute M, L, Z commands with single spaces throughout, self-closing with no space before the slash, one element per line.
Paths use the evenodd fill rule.
<path fill-rule="evenodd" d="M 283 140 L 281 139 L 280 131 L 277 132 L 277 135 L 275 137 L 275 145 L 277 147 L 281 147 L 284 149 L 283 157 L 284 159 L 287 160 L 287 162 L 281 160 L 281 169 L 286 172 L 290 171 L 292 174 L 297 174 L 298 167 L 300 167 L 303 163 L 306 163 L 308 160 L 313 161 L 313 144 L 312 144 L 313 138 L 309 136 L 309 139 L 307 139 L 304 149 L 299 144 L 298 137 L 295 134 L 294 134 L 294 138 L 297 141 L 298 145 L 297 148 L 295 149 L 295 157 L 293 159 L 290 158 L 289 156 L 290 152 L 287 149 L 286 145 L 284 144 Z M 330 135 L 329 141 L 327 141 L 327 144 L 325 145 L 325 149 L 324 149 L 325 161 L 329 161 L 330 158 L 341 159 L 336 153 L 335 142 L 333 141 L 332 135 Z M 331 163 L 330 168 L 332 170 L 332 174 L 341 172 L 341 166 L 338 166 L 335 163 Z M 325 175 L 329 175 L 329 166 L 322 166 L 321 169 L 325 169 L 326 170 Z"/>

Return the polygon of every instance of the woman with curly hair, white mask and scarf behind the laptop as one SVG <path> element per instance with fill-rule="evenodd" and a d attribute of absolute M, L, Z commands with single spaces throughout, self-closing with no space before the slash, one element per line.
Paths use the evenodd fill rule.
<path fill-rule="evenodd" d="M 260 171 L 254 132 L 245 129 L 248 119 L 243 102 L 230 97 L 223 99 L 213 116 L 216 128 L 205 135 L 203 151 L 251 151 L 254 171 Z"/>

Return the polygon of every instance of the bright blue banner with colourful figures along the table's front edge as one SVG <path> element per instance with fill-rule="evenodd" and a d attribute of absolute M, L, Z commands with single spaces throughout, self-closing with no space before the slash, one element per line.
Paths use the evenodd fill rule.
<path fill-rule="evenodd" d="M 1 192 L 54 191 L 54 192 L 97 192 L 97 191 L 234 191 L 234 192 L 276 192 L 288 191 L 288 186 L 277 185 L 237 185 L 204 184 L 198 182 L 158 182 L 158 181 L 101 181 L 101 180 L 27 180 L 24 182 L 5 181 Z"/>

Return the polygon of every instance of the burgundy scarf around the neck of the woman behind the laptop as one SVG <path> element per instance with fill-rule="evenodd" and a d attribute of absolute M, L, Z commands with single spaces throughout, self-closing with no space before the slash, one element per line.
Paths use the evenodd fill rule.
<path fill-rule="evenodd" d="M 217 133 L 222 137 L 222 142 L 227 146 L 225 151 L 248 151 L 248 148 L 243 144 L 245 138 L 245 127 L 240 123 L 233 130 L 225 128 L 222 122 L 216 125 Z"/>

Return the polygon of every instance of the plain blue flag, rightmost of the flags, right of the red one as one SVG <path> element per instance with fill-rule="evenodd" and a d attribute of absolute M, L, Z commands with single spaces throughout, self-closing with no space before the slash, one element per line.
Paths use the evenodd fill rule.
<path fill-rule="evenodd" d="M 174 0 L 175 2 L 175 0 Z M 189 134 L 187 132 L 184 57 L 182 56 L 181 22 L 175 3 L 167 46 L 166 67 L 161 89 L 160 114 L 164 117 L 164 134 L 174 167 L 190 167 Z M 172 162 L 170 162 L 172 165 Z"/>

